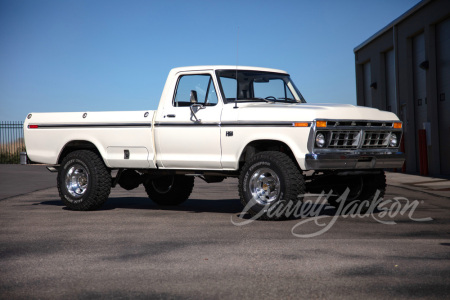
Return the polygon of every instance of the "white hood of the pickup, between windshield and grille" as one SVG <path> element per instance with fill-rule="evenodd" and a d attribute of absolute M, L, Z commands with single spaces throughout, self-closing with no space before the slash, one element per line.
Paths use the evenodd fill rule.
<path fill-rule="evenodd" d="M 249 121 L 313 121 L 332 120 L 373 120 L 396 121 L 391 112 L 376 108 L 351 104 L 310 104 L 310 103 L 239 103 L 238 120 Z"/>

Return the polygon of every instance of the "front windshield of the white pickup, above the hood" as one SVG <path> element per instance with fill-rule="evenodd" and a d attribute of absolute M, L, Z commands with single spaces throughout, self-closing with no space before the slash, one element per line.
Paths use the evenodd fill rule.
<path fill-rule="evenodd" d="M 217 70 L 216 74 L 225 102 L 306 103 L 287 74 L 246 70 Z"/>

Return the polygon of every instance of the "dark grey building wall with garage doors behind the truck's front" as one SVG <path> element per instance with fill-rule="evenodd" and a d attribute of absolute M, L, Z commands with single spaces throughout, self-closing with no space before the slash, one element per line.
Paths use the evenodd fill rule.
<path fill-rule="evenodd" d="M 425 0 L 355 48 L 357 104 L 403 121 L 407 172 L 419 172 L 418 130 L 426 129 L 430 174 L 450 174 L 449 39 L 450 2 Z"/>

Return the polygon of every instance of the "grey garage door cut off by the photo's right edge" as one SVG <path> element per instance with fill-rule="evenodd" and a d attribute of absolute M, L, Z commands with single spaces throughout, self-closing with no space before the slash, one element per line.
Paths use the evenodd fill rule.
<path fill-rule="evenodd" d="M 441 174 L 450 174 L 450 19 L 436 26 Z"/>

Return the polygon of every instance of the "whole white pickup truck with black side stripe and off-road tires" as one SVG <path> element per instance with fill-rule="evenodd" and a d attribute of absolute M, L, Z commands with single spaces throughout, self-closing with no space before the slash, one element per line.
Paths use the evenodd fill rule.
<path fill-rule="evenodd" d="M 156 111 L 30 113 L 24 133 L 28 159 L 58 171 L 73 210 L 101 207 L 117 184 L 177 205 L 195 176 L 238 177 L 247 212 L 274 219 L 306 192 L 333 190 L 332 205 L 346 188 L 347 200 L 382 197 L 383 169 L 405 160 L 395 114 L 308 104 L 285 71 L 256 67 L 175 68 Z"/>

